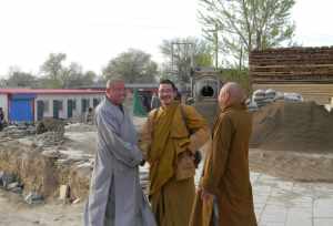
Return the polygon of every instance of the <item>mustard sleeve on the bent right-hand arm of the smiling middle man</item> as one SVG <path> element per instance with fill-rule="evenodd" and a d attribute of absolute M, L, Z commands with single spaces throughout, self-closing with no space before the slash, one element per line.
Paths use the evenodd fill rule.
<path fill-rule="evenodd" d="M 183 111 L 185 123 L 192 131 L 188 148 L 194 153 L 209 141 L 210 129 L 206 120 L 193 106 L 184 105 Z"/>

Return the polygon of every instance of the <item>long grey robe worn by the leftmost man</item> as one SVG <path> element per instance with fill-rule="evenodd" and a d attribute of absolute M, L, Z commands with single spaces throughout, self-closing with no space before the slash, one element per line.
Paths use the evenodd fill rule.
<path fill-rule="evenodd" d="M 95 110 L 98 151 L 84 213 L 85 226 L 154 226 L 138 165 L 142 161 L 128 113 L 108 99 Z"/>

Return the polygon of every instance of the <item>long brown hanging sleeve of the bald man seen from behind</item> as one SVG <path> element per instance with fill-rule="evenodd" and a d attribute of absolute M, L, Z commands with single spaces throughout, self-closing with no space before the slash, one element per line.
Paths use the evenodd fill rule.
<path fill-rule="evenodd" d="M 233 134 L 234 126 L 231 119 L 226 115 L 221 116 L 220 124 L 214 132 L 212 153 L 208 160 L 209 166 L 201 179 L 201 186 L 209 193 L 216 194 L 228 165 Z"/>

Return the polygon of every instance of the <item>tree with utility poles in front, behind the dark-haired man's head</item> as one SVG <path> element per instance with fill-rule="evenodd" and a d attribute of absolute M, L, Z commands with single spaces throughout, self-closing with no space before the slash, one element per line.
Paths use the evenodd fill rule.
<path fill-rule="evenodd" d="M 212 65 L 211 44 L 196 38 L 163 40 L 160 50 L 167 60 L 162 66 L 163 78 L 173 78 L 174 81 L 190 81 L 191 63 L 194 66 Z"/>

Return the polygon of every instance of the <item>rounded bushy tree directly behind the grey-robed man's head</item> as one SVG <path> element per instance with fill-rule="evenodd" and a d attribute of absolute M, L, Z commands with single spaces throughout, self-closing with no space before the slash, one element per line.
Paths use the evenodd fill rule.
<path fill-rule="evenodd" d="M 110 60 L 102 73 L 105 80 L 123 79 L 128 83 L 154 82 L 158 64 L 151 60 L 150 54 L 130 49 Z"/>

